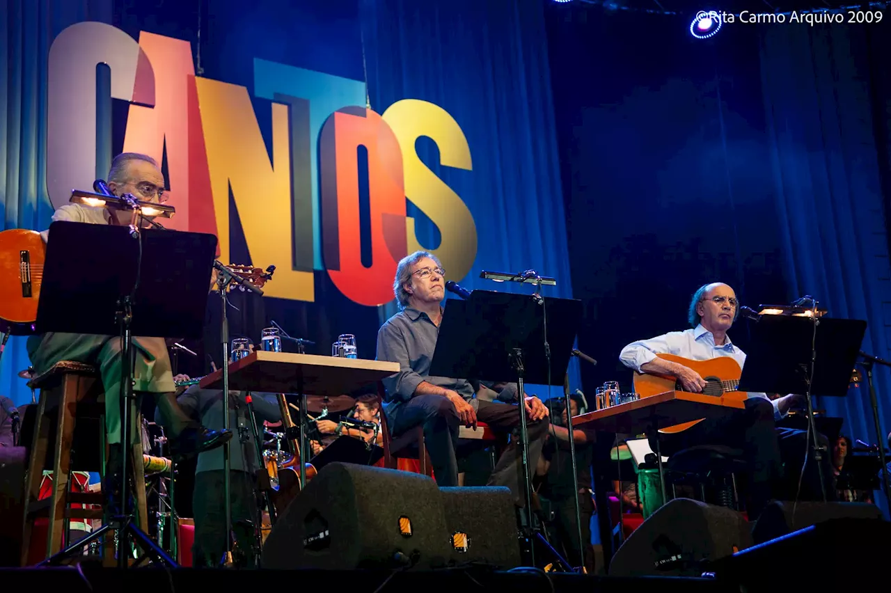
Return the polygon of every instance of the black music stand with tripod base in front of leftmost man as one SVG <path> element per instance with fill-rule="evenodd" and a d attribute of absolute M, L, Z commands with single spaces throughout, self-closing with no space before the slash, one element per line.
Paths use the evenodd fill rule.
<path fill-rule="evenodd" d="M 217 238 L 197 232 L 162 232 L 104 224 L 50 225 L 37 332 L 120 336 L 122 340 L 121 443 L 123 515 L 40 565 L 55 565 L 106 533 L 118 532 L 118 565 L 126 568 L 127 535 L 143 551 L 176 566 L 167 552 L 127 515 L 130 486 L 130 410 L 133 402 L 133 334 L 199 338 L 204 327 Z M 87 277 L 88 274 L 88 277 Z M 174 292 L 176 290 L 176 292 Z"/>

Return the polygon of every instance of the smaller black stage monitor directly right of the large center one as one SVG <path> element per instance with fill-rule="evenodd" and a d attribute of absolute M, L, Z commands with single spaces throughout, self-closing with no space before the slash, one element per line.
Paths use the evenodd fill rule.
<path fill-rule="evenodd" d="M 508 488 L 440 488 L 439 492 L 453 565 L 473 563 L 508 570 L 522 564 L 517 516 Z"/>

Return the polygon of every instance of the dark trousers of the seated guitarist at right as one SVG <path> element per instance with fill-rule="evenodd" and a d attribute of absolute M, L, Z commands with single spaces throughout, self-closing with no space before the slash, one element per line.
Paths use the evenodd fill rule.
<path fill-rule="evenodd" d="M 681 433 L 659 435 L 662 454 L 696 445 L 715 444 L 740 449 L 748 466 L 748 516 L 754 521 L 782 484 L 782 462 L 773 421 L 773 406 L 761 397 L 746 400 L 745 410 L 706 419 Z M 656 443 L 650 436 L 650 447 Z"/>

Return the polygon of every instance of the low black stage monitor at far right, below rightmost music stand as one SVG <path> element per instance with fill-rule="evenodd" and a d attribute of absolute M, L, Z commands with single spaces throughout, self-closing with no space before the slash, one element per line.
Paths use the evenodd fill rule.
<path fill-rule="evenodd" d="M 758 516 L 752 538 L 760 544 L 830 519 L 845 518 L 881 520 L 882 512 L 866 502 L 773 500 Z"/>

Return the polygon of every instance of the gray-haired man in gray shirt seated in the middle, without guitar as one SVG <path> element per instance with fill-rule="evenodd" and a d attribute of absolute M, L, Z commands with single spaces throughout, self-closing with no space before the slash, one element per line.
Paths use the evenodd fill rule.
<path fill-rule="evenodd" d="M 470 381 L 464 378 L 430 377 L 430 362 L 436 349 L 441 303 L 446 298 L 445 271 L 436 256 L 417 251 L 396 267 L 393 292 L 400 313 L 378 330 L 377 360 L 398 362 L 401 370 L 384 379 L 387 388 L 387 414 L 391 435 L 405 434 L 423 426 L 424 443 L 437 484 L 458 485 L 455 444 L 458 428 L 485 422 L 494 431 L 511 433 L 519 425 L 517 409 L 475 397 Z M 505 386 L 498 394 L 503 402 L 515 402 L 517 386 Z M 525 396 L 525 394 L 524 394 Z M 529 467 L 535 467 L 548 431 L 548 410 L 537 397 L 524 397 L 530 420 Z M 504 451 L 489 479 L 490 485 L 507 486 L 518 506 L 525 505 L 521 460 L 517 439 Z"/>

